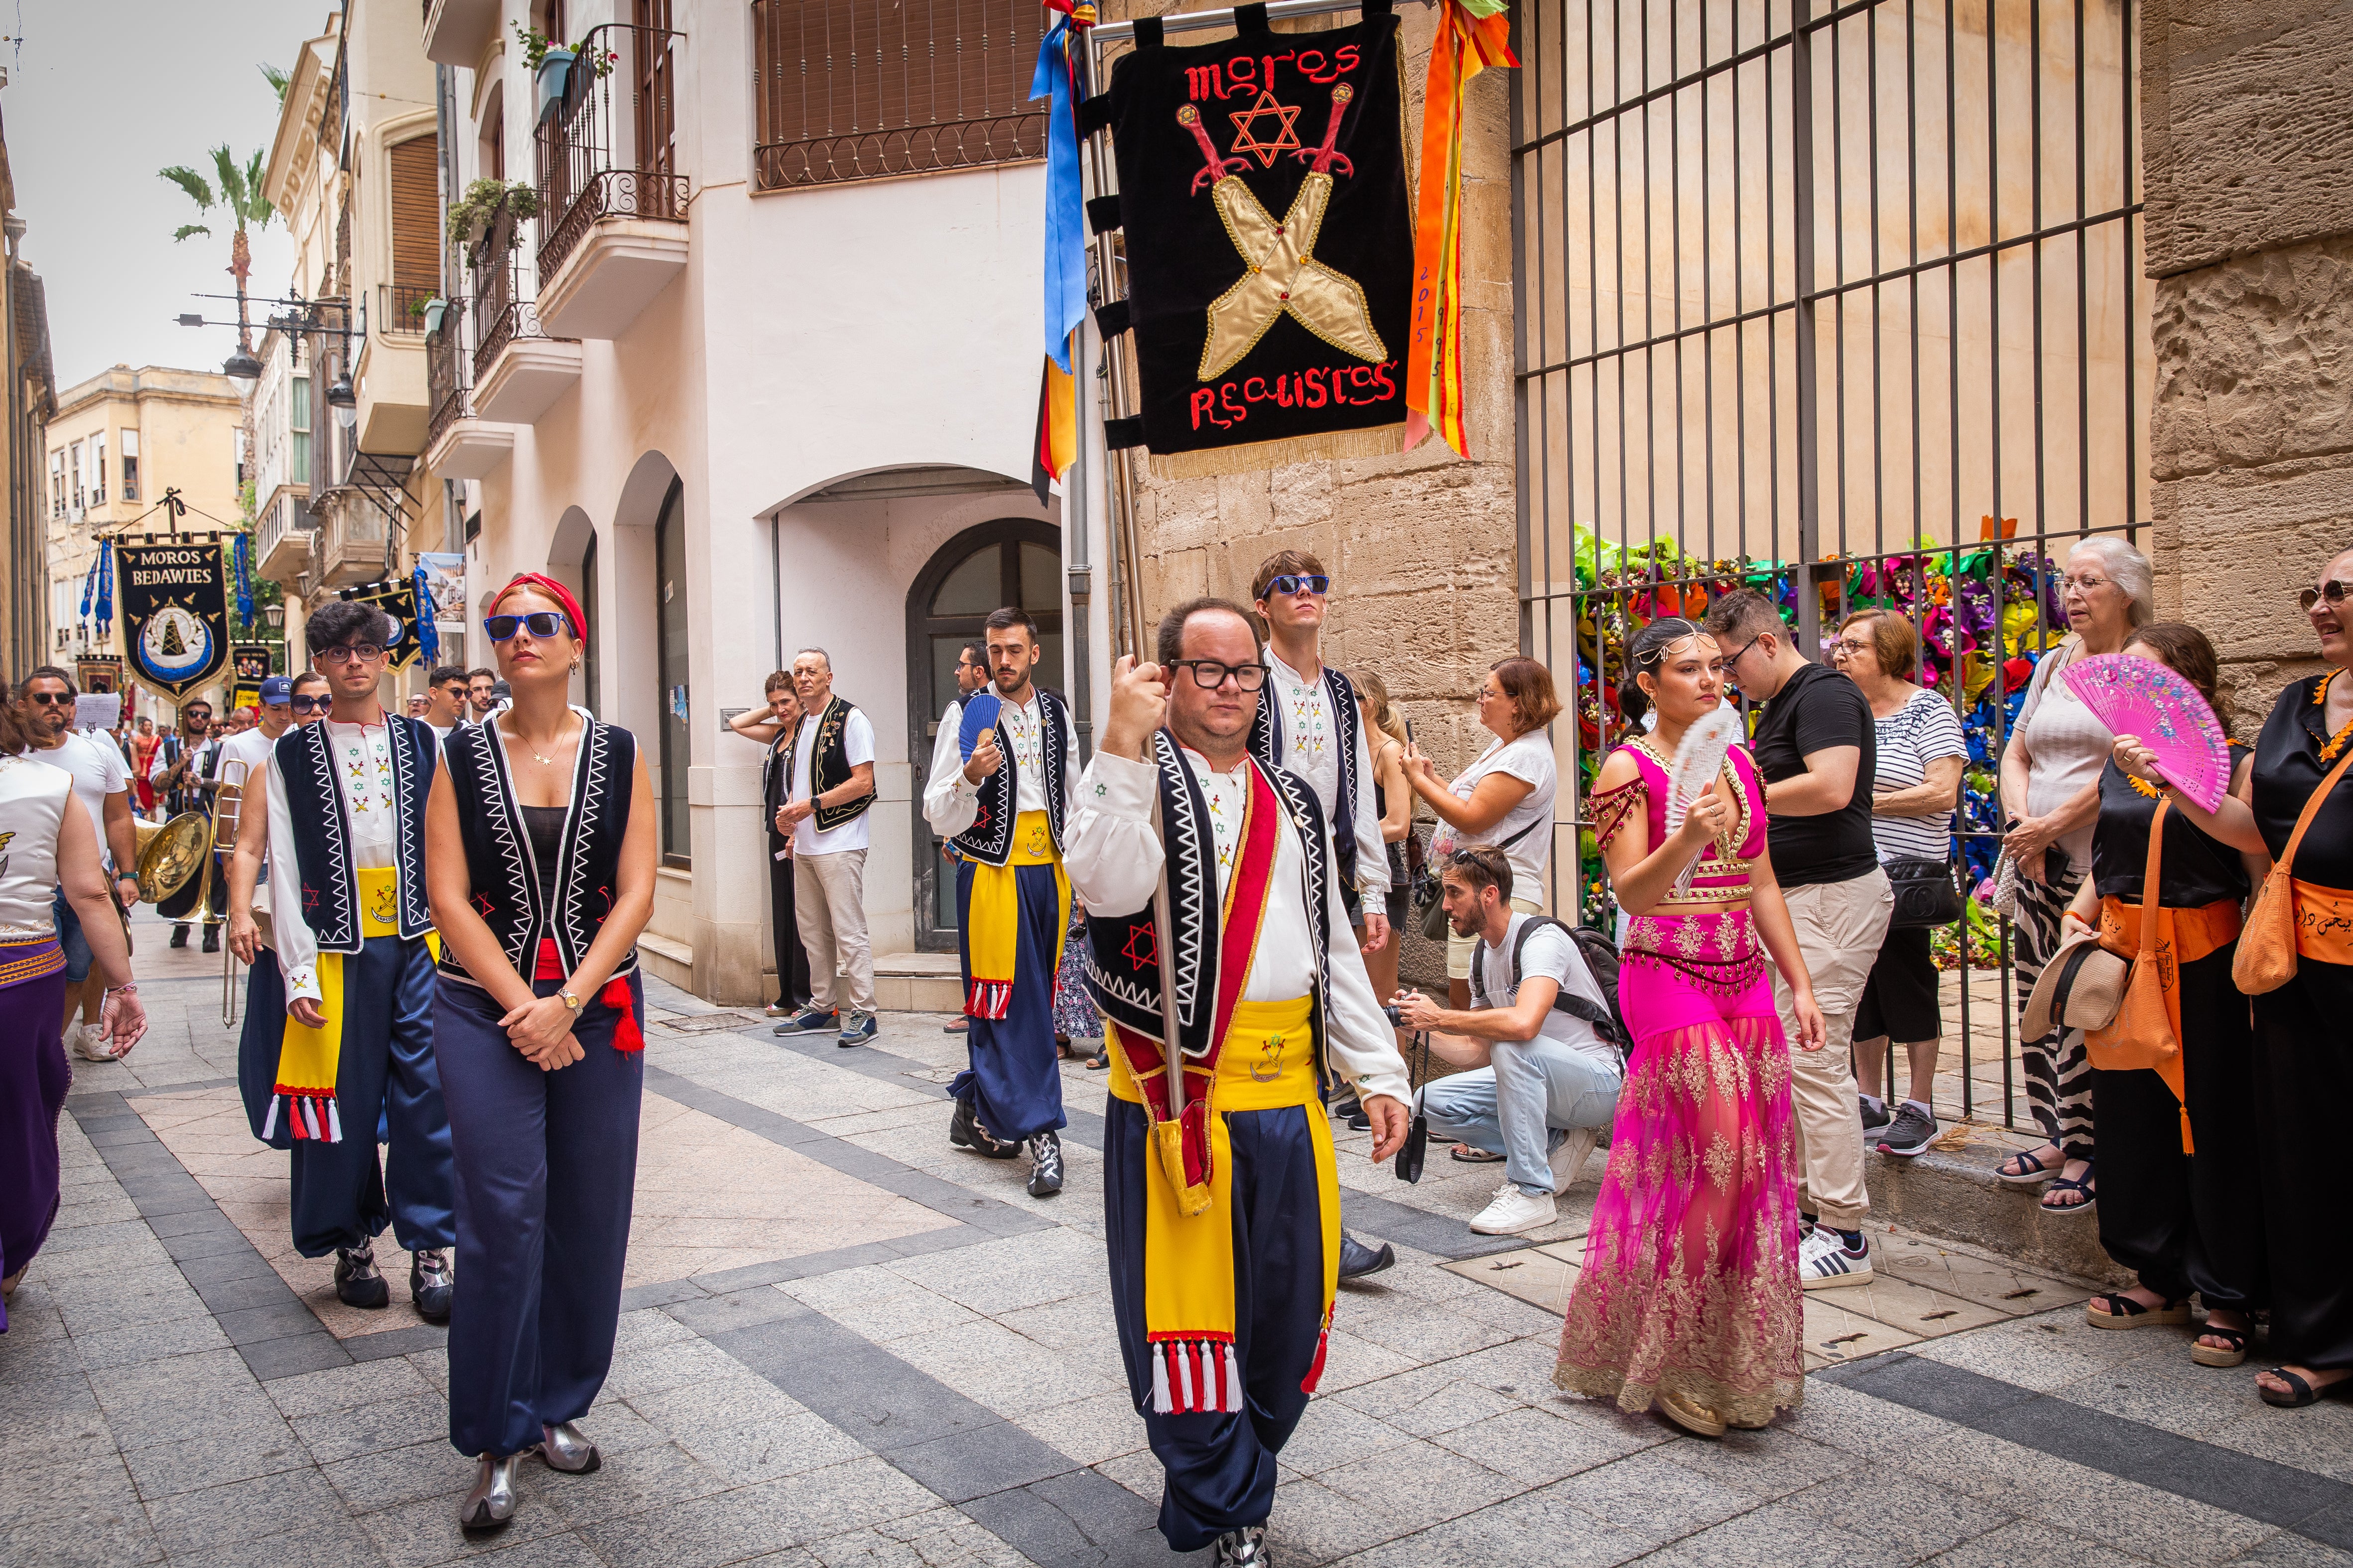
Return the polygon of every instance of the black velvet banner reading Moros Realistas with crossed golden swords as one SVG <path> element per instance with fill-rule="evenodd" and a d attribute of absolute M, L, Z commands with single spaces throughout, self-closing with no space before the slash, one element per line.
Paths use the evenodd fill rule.
<path fill-rule="evenodd" d="M 1172 473 L 1393 451 L 1414 273 L 1398 19 L 1377 0 L 1327 33 L 1235 21 L 1212 45 L 1144 33 L 1106 94 L 1144 444 L 1200 454 Z"/>

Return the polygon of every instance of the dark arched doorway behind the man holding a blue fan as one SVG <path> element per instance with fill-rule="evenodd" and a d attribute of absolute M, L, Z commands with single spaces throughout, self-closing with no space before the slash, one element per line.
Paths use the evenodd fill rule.
<path fill-rule="evenodd" d="M 1038 623 L 1038 684 L 1061 686 L 1061 534 L 1005 517 L 965 529 L 925 562 L 906 595 L 906 755 L 915 771 L 915 947 L 955 952 L 955 877 L 922 820 L 939 712 L 955 698 L 955 651 L 988 611 L 1016 604 Z"/>

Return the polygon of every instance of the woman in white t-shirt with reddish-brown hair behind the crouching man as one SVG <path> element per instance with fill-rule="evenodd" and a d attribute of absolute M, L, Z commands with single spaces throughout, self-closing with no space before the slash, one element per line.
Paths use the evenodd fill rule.
<path fill-rule="evenodd" d="M 1494 844 L 1511 860 L 1511 907 L 1544 910 L 1544 867 L 1553 858 L 1553 743 L 1544 726 L 1560 712 L 1553 672 L 1534 658 L 1499 658 L 1471 701 L 1494 741 L 1449 783 L 1438 766 L 1407 743 L 1405 783 L 1438 813 L 1431 853 L 1445 858 L 1457 844 Z M 1447 1006 L 1471 1006 L 1471 950 L 1475 936 L 1447 933 Z"/>

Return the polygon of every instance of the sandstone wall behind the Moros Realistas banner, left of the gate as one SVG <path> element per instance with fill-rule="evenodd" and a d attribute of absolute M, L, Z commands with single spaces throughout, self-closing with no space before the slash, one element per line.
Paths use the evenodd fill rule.
<path fill-rule="evenodd" d="M 1106 5 L 1104 16 L 1127 9 Z M 1212 5 L 1146 0 L 1132 9 Z M 1412 160 L 1421 146 L 1435 12 L 1407 5 L 1400 21 Z M 1461 769 L 1489 741 L 1471 717 L 1471 696 L 1489 663 L 1520 651 L 1506 71 L 1480 75 L 1466 94 L 1461 275 L 1473 461 L 1457 458 L 1433 437 L 1409 454 L 1287 463 L 1212 480 L 1153 480 L 1136 465 L 1146 618 L 1202 592 L 1247 599 L 1261 559 L 1275 550 L 1313 550 L 1334 578 L 1325 658 L 1344 670 L 1379 670 L 1440 773 Z M 1414 933 L 1405 971 L 1442 978 L 1442 954 L 1433 961 Z"/>

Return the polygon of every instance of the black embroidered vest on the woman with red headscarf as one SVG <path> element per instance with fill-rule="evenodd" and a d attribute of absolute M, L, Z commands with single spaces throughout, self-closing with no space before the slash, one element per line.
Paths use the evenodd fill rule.
<path fill-rule="evenodd" d="M 555 907 L 541 896 L 539 856 L 515 804 L 515 778 L 506 759 L 499 719 L 459 729 L 442 759 L 456 797 L 459 837 L 466 844 L 466 877 L 473 910 L 499 938 L 506 961 L 525 980 L 539 966 L 539 940 L 553 938 L 565 971 L 581 966 L 612 914 L 621 879 L 621 839 L 628 837 L 631 792 L 638 783 L 638 738 L 600 724 L 584 708 L 581 738 L 572 757 L 572 799 L 555 860 Z M 616 976 L 638 966 L 638 950 L 614 964 Z M 456 952 L 442 945 L 440 971 L 468 980 Z"/>

